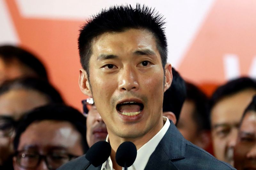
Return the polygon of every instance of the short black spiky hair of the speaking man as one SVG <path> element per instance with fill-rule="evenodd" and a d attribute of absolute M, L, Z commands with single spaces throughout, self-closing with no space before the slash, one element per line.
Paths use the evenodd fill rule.
<path fill-rule="evenodd" d="M 156 38 L 163 67 L 167 60 L 167 41 L 164 33 L 164 18 L 155 9 L 140 4 L 112 6 L 92 16 L 80 30 L 78 49 L 80 62 L 89 77 L 89 60 L 92 55 L 92 40 L 106 32 L 123 32 L 130 28 L 147 29 Z"/>

